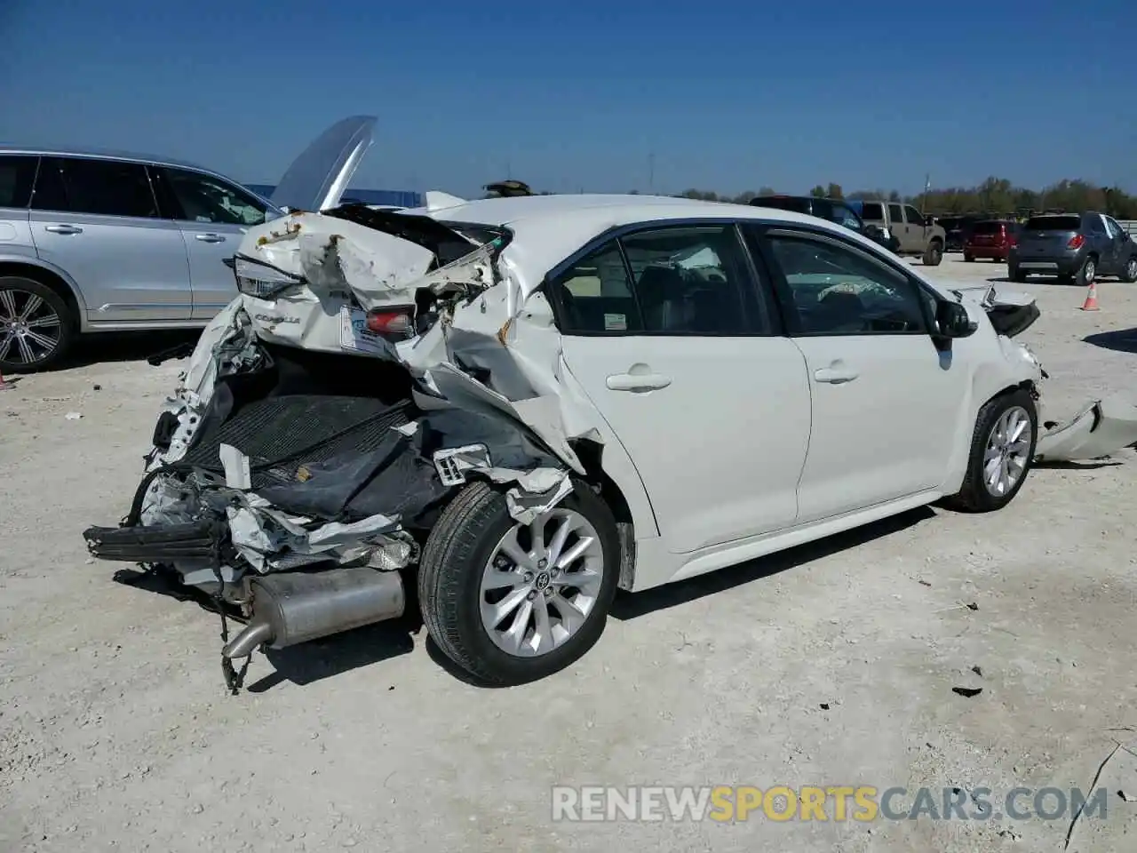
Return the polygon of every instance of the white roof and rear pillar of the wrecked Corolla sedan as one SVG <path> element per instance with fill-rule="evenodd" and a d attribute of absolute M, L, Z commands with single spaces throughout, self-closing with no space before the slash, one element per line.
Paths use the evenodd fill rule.
<path fill-rule="evenodd" d="M 774 207 L 669 196 L 522 196 L 478 199 L 434 210 L 414 208 L 402 213 L 422 214 L 441 222 L 509 229 L 514 240 L 504 257 L 518 274 L 522 292 L 526 297 L 553 267 L 611 229 L 656 220 L 732 218 L 810 225 L 877 248 L 860 234 L 815 216 Z"/>

